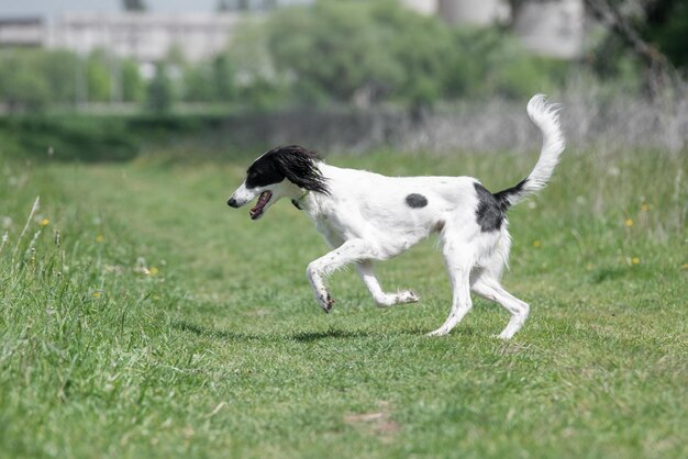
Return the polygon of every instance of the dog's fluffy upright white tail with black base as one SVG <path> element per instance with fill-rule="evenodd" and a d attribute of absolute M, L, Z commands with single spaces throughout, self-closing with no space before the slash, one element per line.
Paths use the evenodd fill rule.
<path fill-rule="evenodd" d="M 535 94 L 528 102 L 528 115 L 542 131 L 542 150 L 533 171 L 515 187 L 495 193 L 502 210 L 519 203 L 525 197 L 545 188 L 554 167 L 564 152 L 565 141 L 559 125 L 558 107 L 547 102 L 543 94 Z"/>

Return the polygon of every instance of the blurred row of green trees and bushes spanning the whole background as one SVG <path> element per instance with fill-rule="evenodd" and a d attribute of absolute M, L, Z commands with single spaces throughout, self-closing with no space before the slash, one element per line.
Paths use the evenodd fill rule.
<path fill-rule="evenodd" d="M 617 11 L 625 3 L 604 4 Z M 688 4 L 640 4 L 652 8 L 633 16 L 639 34 L 676 66 L 688 65 Z M 618 37 L 609 34 L 582 64 L 591 64 L 604 78 L 619 76 L 621 69 L 637 74 L 637 66 L 617 53 L 623 42 Z M 1 49 L 0 102 L 9 110 L 93 102 L 155 112 L 169 111 L 177 102 L 259 109 L 396 103 L 419 109 L 440 100 L 551 92 L 580 64 L 532 55 L 507 27 L 451 27 L 399 8 L 395 0 L 321 0 L 247 20 L 223 53 L 200 63 L 188 63 L 173 48 L 151 78 L 142 76 L 134 60 L 104 49 L 88 56 Z"/>

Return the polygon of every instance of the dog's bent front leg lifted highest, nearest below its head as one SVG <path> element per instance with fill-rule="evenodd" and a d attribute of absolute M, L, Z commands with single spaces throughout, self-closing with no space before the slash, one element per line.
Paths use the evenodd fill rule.
<path fill-rule="evenodd" d="M 308 276 L 315 300 L 324 312 L 330 312 L 334 300 L 325 286 L 324 277 L 331 275 L 343 266 L 367 259 L 376 259 L 379 255 L 375 248 L 363 239 L 349 239 L 329 254 L 311 261 L 308 265 Z"/>

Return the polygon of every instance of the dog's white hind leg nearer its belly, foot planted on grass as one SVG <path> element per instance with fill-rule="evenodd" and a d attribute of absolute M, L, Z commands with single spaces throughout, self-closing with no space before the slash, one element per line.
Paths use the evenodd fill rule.
<path fill-rule="evenodd" d="M 448 334 L 470 311 L 470 270 L 474 265 L 470 247 L 451 243 L 444 245 L 444 260 L 452 281 L 452 310 L 444 324 L 428 336 L 443 336 Z"/>

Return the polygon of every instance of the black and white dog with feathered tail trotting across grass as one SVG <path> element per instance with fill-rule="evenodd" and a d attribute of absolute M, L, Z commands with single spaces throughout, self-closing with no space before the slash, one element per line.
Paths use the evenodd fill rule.
<path fill-rule="evenodd" d="M 470 177 L 385 177 L 343 169 L 293 145 L 256 159 L 228 204 L 241 208 L 258 197 L 249 212 L 251 219 L 258 220 L 280 198 L 289 198 L 310 215 L 333 247 L 307 269 L 325 312 L 334 303 L 325 277 L 352 262 L 380 306 L 419 301 L 412 291 L 385 292 L 373 261 L 391 258 L 439 233 L 454 293 L 450 316 L 430 335 L 446 335 L 460 322 L 471 307 L 473 291 L 509 311 L 511 320 L 499 335 L 508 339 L 525 322 L 529 305 L 500 284 L 511 245 L 504 214 L 544 188 L 564 150 L 557 111 L 544 96 L 530 100 L 528 114 L 542 131 L 540 159 L 528 178 L 495 194 Z"/>

